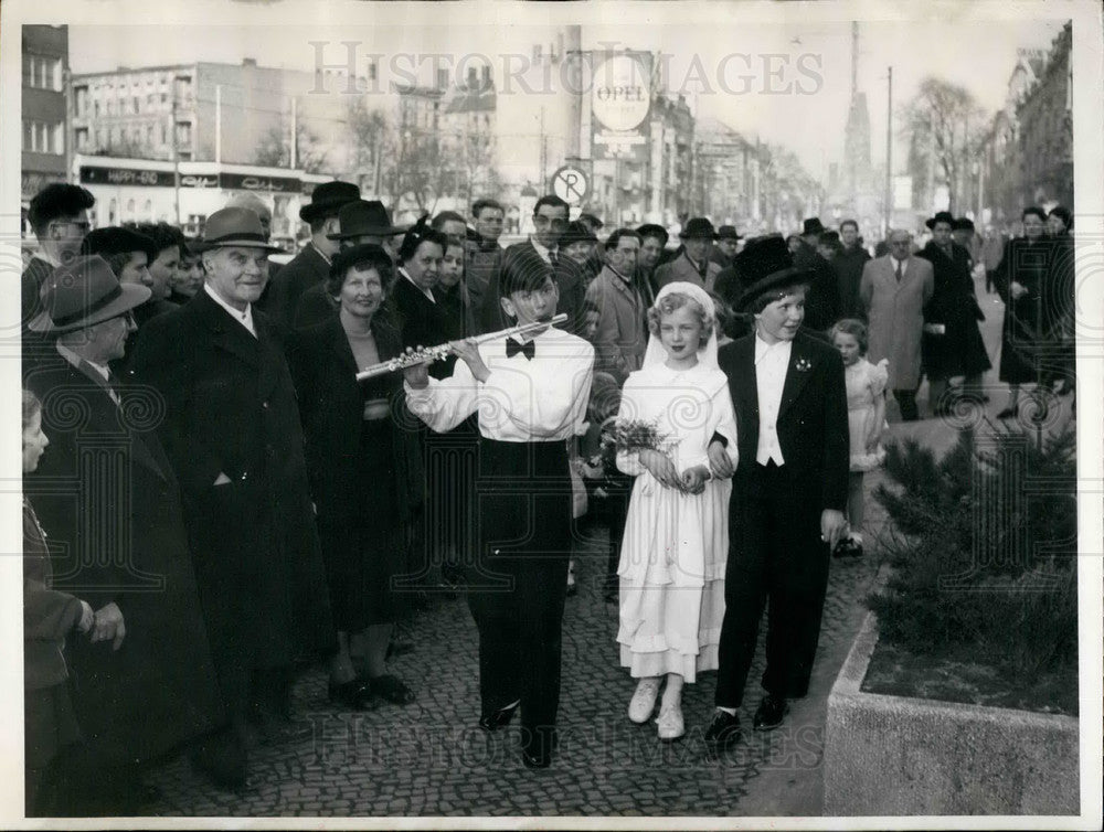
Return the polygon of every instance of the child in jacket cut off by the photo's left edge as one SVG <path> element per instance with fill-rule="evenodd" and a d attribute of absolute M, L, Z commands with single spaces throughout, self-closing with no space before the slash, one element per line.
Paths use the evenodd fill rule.
<path fill-rule="evenodd" d="M 50 440 L 42 433 L 42 404 L 23 391 L 23 473 L 39 467 Z M 53 588 L 46 533 L 23 497 L 23 761 L 30 817 L 66 814 L 71 796 L 64 775 L 81 739 L 65 664 L 65 639 L 88 632 L 87 601 Z"/>

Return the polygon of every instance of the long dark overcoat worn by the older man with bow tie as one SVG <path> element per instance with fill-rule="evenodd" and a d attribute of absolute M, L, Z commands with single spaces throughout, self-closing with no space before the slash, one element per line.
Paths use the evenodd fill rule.
<path fill-rule="evenodd" d="M 138 333 L 132 363 L 164 401 L 208 631 L 235 672 L 336 647 L 283 330 L 253 321 L 256 338 L 199 291 Z"/>

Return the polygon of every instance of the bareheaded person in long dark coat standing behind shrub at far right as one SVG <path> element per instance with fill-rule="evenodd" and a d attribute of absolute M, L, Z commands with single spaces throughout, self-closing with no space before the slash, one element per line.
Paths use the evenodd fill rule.
<path fill-rule="evenodd" d="M 1044 296 L 1052 253 L 1047 238 L 1047 214 L 1027 207 L 1022 214 L 1023 236 L 1005 244 L 994 284 L 1005 301 L 1005 326 L 1000 338 L 1000 381 L 1008 384 L 1008 406 L 997 418 L 1015 418 L 1019 410 L 1021 384 L 1039 381 L 1040 349 L 1043 348 Z"/>

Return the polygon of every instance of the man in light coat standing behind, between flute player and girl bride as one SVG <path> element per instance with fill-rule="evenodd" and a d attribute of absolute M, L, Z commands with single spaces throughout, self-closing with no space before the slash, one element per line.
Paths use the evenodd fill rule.
<path fill-rule="evenodd" d="M 618 228 L 606 241 L 606 265 L 586 289 L 585 308 L 597 312 L 591 342 L 598 371 L 624 384 L 628 374 L 640 369 L 648 343 L 645 321 L 647 307 L 635 279 L 640 235 Z"/>

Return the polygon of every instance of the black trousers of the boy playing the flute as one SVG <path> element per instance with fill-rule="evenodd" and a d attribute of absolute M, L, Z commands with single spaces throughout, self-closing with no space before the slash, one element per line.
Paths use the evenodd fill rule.
<path fill-rule="evenodd" d="M 539 753 L 560 706 L 572 506 L 565 442 L 481 439 L 476 501 L 480 545 L 467 580 L 481 712 L 521 700 L 522 743 Z"/>

